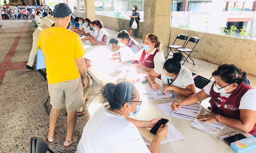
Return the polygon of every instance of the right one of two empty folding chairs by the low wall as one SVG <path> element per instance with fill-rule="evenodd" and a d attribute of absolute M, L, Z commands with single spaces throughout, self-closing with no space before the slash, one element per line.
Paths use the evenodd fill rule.
<path fill-rule="evenodd" d="M 186 48 L 186 46 L 187 46 L 187 44 L 188 44 L 189 42 L 195 44 L 195 46 L 193 47 L 193 49 L 188 49 L 188 48 Z M 183 57 L 185 58 L 185 60 L 183 60 L 184 63 L 185 63 L 186 61 L 188 62 L 187 59 L 190 58 L 190 60 L 191 60 L 193 63 L 191 63 L 191 62 L 188 62 L 188 63 L 195 65 L 194 61 L 193 61 L 192 58 L 190 57 L 190 54 L 194 51 L 194 49 L 195 49 L 195 47 L 196 47 L 196 45 L 197 45 L 198 42 L 199 42 L 199 38 L 198 38 L 198 37 L 190 37 L 190 38 L 188 39 L 188 41 L 187 41 L 187 44 L 186 44 L 183 48 L 177 48 L 178 51 L 184 52 L 184 53 L 187 55 L 187 57 L 186 57 L 186 56 L 183 54 Z M 188 53 L 188 54 L 187 54 L 187 53 Z M 184 64 L 184 63 L 183 63 L 183 64 Z M 183 65 L 183 64 L 182 64 L 182 65 Z"/>

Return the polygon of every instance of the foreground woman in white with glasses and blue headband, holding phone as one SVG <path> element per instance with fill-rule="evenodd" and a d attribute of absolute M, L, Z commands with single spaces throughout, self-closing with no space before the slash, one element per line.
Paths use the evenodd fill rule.
<path fill-rule="evenodd" d="M 76 153 L 159 153 L 168 125 L 161 125 L 150 146 L 145 145 L 138 128 L 152 128 L 161 118 L 142 121 L 129 117 L 139 113 L 142 103 L 134 85 L 108 83 L 101 94 L 107 103 L 86 123 Z"/>

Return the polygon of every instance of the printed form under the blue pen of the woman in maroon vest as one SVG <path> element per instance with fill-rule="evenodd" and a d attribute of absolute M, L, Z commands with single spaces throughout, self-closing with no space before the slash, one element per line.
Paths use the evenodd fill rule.
<path fill-rule="evenodd" d="M 201 109 L 202 105 L 200 104 L 186 105 L 179 108 L 178 111 L 173 111 L 171 116 L 194 121 L 196 116 L 200 114 Z"/>

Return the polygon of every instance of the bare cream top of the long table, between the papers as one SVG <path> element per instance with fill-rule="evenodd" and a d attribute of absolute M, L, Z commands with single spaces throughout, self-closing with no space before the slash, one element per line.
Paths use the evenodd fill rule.
<path fill-rule="evenodd" d="M 130 75 L 131 78 L 134 77 L 133 84 L 140 92 L 140 98 L 143 101 L 140 112 L 133 116 L 134 118 L 139 120 L 151 120 L 157 117 L 166 118 L 169 120 L 168 123 L 173 124 L 174 127 L 185 137 L 185 139 L 182 140 L 161 144 L 160 153 L 234 153 L 230 146 L 223 140 L 219 140 L 218 137 L 233 132 L 239 132 L 246 137 L 251 136 L 248 133 L 229 128 L 228 126 L 217 134 L 207 134 L 189 126 L 192 121 L 172 117 L 170 115 L 164 115 L 156 104 L 172 102 L 172 100 L 148 100 L 144 93 L 153 92 L 154 90 L 148 83 L 142 84 L 136 81 L 137 79 L 146 76 L 147 72 L 143 70 L 135 70 L 129 62 L 110 62 L 109 59 L 111 58 L 112 52 L 103 46 L 96 45 L 86 47 L 86 55 L 84 57 L 89 58 L 90 60 L 98 60 L 98 64 L 96 66 L 87 68 L 87 72 L 97 83 L 102 85 L 108 82 L 119 83 L 125 81 L 127 75 Z M 123 71 L 121 72 L 119 69 L 123 69 Z M 158 81 L 160 82 L 160 80 Z M 185 97 L 177 95 L 175 92 L 172 93 L 175 95 L 176 101 L 185 99 Z M 211 111 L 203 107 L 200 114 L 202 115 L 204 112 L 211 113 Z M 139 128 L 139 131 L 141 135 L 148 140 L 153 139 L 154 137 L 154 135 L 149 132 L 150 129 Z M 255 152 L 256 149 L 251 150 L 248 153 Z"/>

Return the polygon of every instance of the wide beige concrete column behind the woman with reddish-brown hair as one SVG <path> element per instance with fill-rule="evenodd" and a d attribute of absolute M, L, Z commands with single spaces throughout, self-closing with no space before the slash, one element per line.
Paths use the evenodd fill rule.
<path fill-rule="evenodd" d="M 160 50 L 165 56 L 170 39 L 171 5 L 172 0 L 144 1 L 143 40 L 148 33 L 157 35 L 161 42 Z"/>

